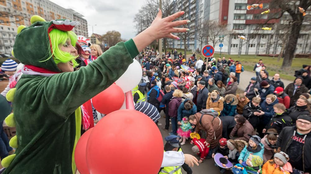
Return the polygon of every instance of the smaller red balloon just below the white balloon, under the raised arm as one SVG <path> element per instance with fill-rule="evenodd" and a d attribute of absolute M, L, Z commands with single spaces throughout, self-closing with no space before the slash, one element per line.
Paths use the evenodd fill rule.
<path fill-rule="evenodd" d="M 107 89 L 92 98 L 94 108 L 103 114 L 109 114 L 119 110 L 124 102 L 123 90 L 116 84 L 112 84 Z"/>

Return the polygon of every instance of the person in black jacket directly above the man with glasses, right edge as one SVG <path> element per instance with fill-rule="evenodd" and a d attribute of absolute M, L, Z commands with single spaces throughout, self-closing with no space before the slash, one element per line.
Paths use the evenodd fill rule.
<path fill-rule="evenodd" d="M 289 110 L 290 113 L 288 115 L 291 117 L 293 124 L 295 124 L 299 115 L 310 114 L 310 104 L 306 98 L 300 97 L 298 98 L 296 104 L 290 107 Z"/>

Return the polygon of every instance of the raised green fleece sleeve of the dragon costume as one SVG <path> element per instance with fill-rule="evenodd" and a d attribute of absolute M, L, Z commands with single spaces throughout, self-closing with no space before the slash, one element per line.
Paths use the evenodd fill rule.
<path fill-rule="evenodd" d="M 49 109 L 61 117 L 68 117 L 77 107 L 118 80 L 137 55 L 131 39 L 109 48 L 78 71 L 50 76 L 43 89 Z"/>

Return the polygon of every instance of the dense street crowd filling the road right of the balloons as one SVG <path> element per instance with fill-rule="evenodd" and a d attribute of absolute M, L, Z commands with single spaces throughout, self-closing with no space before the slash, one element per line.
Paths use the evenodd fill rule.
<path fill-rule="evenodd" d="M 165 112 L 162 129 L 169 131 L 171 126 L 168 133 L 180 137 L 179 147 L 190 142 L 190 133 L 201 135 L 190 142 L 195 142 L 194 153 L 204 153 L 199 163 L 221 153 L 235 169 L 244 167 L 248 172 L 311 171 L 310 66 L 303 65 L 294 82 L 284 86 L 278 73 L 269 79 L 259 60 L 256 75 L 240 91 L 239 75 L 244 70 L 239 61 L 225 57 L 203 61 L 176 50 L 152 60 L 151 55 L 156 52 L 147 47 L 139 56 L 140 93 L 147 93 L 147 102 Z"/>

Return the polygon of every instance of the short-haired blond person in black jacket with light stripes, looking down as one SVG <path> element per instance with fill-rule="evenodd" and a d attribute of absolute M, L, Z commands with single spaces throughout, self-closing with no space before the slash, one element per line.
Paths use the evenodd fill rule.
<path fill-rule="evenodd" d="M 266 133 L 266 130 L 268 129 L 275 129 L 279 134 L 285 126 L 292 126 L 292 119 L 288 116 L 290 112 L 286 110 L 284 104 L 276 103 L 273 106 L 273 110 L 275 114 L 267 126 L 263 129 L 263 133 Z"/>

